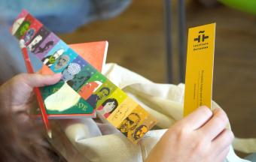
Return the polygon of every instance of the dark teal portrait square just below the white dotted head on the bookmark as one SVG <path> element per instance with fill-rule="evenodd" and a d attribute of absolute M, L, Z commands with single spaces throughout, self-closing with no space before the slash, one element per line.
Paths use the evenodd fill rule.
<path fill-rule="evenodd" d="M 69 80 L 67 83 L 72 87 L 72 89 L 78 91 L 78 89 L 80 89 L 81 86 L 83 86 L 84 83 L 90 79 L 90 76 L 91 74 L 89 71 L 81 70 L 78 74 L 75 74 L 72 80 Z"/>

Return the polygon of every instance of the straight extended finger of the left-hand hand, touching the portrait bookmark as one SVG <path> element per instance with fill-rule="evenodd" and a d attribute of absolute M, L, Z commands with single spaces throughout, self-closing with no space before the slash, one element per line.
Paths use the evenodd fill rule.
<path fill-rule="evenodd" d="M 53 75 L 41 75 L 41 74 L 20 74 L 22 79 L 21 82 L 32 88 L 49 86 L 59 82 L 61 74 Z"/>

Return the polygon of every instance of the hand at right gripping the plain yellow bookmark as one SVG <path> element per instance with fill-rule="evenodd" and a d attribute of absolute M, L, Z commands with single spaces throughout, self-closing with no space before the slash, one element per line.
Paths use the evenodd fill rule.
<path fill-rule="evenodd" d="M 233 133 L 221 109 L 200 107 L 175 123 L 148 155 L 147 162 L 221 162 L 227 156 Z"/>

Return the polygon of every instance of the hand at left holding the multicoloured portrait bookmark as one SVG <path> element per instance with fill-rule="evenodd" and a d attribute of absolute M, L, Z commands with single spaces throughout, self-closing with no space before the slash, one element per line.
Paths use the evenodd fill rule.
<path fill-rule="evenodd" d="M 57 83 L 61 74 L 19 74 L 0 87 L 0 100 L 12 112 L 23 112 L 32 107 L 34 87 Z"/>

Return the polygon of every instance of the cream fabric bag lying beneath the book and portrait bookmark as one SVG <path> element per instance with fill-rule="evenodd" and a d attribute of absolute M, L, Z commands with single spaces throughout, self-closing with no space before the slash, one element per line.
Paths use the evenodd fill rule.
<path fill-rule="evenodd" d="M 109 124 L 92 118 L 51 121 L 52 145 L 68 161 L 142 162 L 166 129 L 182 118 L 184 84 L 157 84 L 115 64 L 107 64 L 103 74 L 158 119 L 157 129 L 150 130 L 134 145 Z M 219 107 L 214 101 L 212 108 Z M 230 127 L 229 127 L 230 128 Z M 235 139 L 227 162 L 246 162 L 233 147 L 245 153 L 256 152 L 256 139 Z"/>

